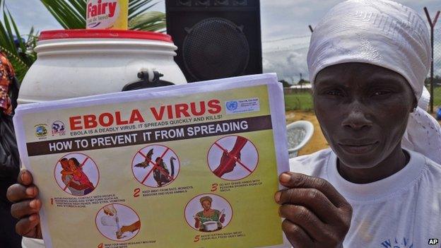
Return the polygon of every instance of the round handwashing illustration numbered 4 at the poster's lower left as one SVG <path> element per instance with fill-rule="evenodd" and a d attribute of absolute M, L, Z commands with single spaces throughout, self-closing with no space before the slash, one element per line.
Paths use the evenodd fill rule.
<path fill-rule="evenodd" d="M 98 230 L 110 240 L 130 240 L 141 228 L 138 215 L 122 204 L 110 204 L 97 215 Z"/>

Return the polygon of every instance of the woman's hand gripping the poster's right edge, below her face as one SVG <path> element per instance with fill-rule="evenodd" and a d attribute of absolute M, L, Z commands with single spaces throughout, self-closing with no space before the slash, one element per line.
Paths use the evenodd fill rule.
<path fill-rule="evenodd" d="M 279 215 L 286 237 L 296 248 L 343 247 L 351 226 L 352 207 L 326 180 L 293 172 L 279 178 Z"/>

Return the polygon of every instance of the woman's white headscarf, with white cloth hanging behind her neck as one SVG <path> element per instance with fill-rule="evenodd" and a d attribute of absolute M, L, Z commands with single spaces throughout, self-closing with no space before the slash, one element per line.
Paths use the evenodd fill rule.
<path fill-rule="evenodd" d="M 334 64 L 382 66 L 404 76 L 418 105 L 425 106 L 427 94 L 421 95 L 430 52 L 428 28 L 413 9 L 388 0 L 349 0 L 332 8 L 314 29 L 307 64 L 312 85 L 319 71 Z M 402 146 L 441 163 L 440 131 L 440 124 L 417 107 Z"/>

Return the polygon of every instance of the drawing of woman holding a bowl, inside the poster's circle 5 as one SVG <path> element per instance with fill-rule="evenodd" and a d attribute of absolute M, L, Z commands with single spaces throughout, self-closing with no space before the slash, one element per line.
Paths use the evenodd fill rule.
<path fill-rule="evenodd" d="M 213 199 L 210 196 L 203 196 L 199 199 L 204 211 L 196 213 L 194 216 L 194 228 L 201 232 L 213 232 L 223 228 L 222 223 L 225 221 L 225 213 L 211 208 Z"/>

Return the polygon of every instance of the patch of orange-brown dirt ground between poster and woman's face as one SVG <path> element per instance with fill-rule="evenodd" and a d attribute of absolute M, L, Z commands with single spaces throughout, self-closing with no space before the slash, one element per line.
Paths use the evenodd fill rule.
<path fill-rule="evenodd" d="M 314 125 L 314 134 L 312 135 L 310 142 L 300 149 L 298 155 L 314 153 L 317 150 L 329 147 L 326 139 L 324 139 L 322 129 L 320 129 L 319 122 L 317 121 L 314 112 L 303 112 L 298 110 L 286 112 L 286 124 L 300 120 L 312 122 Z"/>

